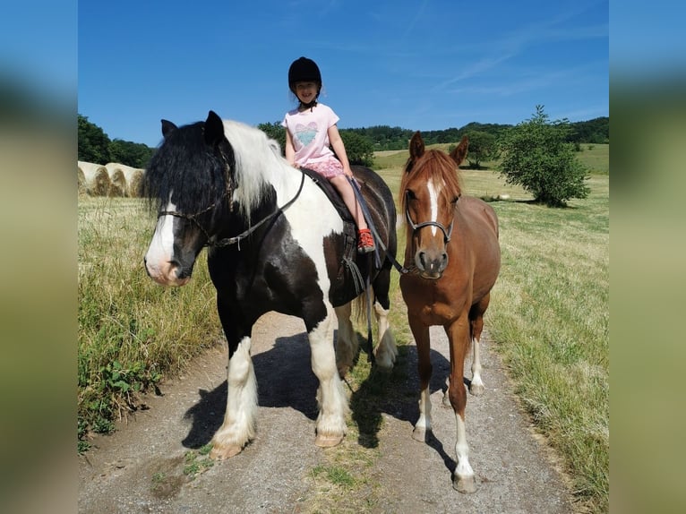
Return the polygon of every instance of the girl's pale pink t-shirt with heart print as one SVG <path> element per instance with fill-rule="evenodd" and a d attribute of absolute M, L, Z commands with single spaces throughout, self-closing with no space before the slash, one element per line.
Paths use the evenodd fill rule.
<path fill-rule="evenodd" d="M 317 103 L 313 109 L 288 111 L 281 124 L 286 127 L 296 150 L 296 164 L 323 162 L 333 157 L 329 148 L 329 127 L 339 123 L 339 116 L 329 106 Z"/>

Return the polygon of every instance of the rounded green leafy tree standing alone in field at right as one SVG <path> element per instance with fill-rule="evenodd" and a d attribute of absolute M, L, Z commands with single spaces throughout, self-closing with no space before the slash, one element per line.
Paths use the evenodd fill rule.
<path fill-rule="evenodd" d="M 584 184 L 587 170 L 566 142 L 569 133 L 566 119 L 550 123 L 544 106 L 536 106 L 531 119 L 502 135 L 501 176 L 551 207 L 564 206 L 570 198 L 586 198 L 590 192 Z"/>

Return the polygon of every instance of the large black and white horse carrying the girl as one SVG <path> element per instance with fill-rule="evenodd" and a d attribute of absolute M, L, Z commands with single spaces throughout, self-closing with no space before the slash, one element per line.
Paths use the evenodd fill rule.
<path fill-rule="evenodd" d="M 347 371 L 357 350 L 351 302 L 367 279 L 379 326 L 375 362 L 391 368 L 397 353 L 388 324 L 388 255 L 396 253 L 388 186 L 372 170 L 353 167 L 379 235 L 375 264 L 372 254 L 356 254 L 355 231 L 351 240 L 349 220 L 316 180 L 289 166 L 279 144 L 262 131 L 210 111 L 204 122 L 181 127 L 163 120 L 162 134 L 143 184 L 158 212 L 145 267 L 160 284 L 183 286 L 208 247 L 229 359 L 227 411 L 212 438 L 211 456 L 232 457 L 254 437 L 251 332 L 270 311 L 304 320 L 319 379 L 315 444 L 335 446 L 346 433 L 348 411 L 339 373 Z"/>

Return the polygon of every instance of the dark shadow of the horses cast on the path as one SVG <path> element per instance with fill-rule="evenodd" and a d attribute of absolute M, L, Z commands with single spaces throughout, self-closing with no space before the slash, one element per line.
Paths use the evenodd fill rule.
<path fill-rule="evenodd" d="M 361 337 L 360 337 L 361 338 Z M 365 342 L 360 340 L 360 347 Z M 314 421 L 318 407 L 315 398 L 319 381 L 312 371 L 310 346 L 305 332 L 277 338 L 269 350 L 253 355 L 260 407 L 290 407 Z M 439 352 L 432 350 L 432 392 L 445 391 L 445 380 L 450 373 L 450 362 Z M 364 350 L 356 356 L 367 359 Z M 414 345 L 399 347 L 398 362 L 391 373 L 373 368 L 372 373 L 350 396 L 351 415 L 358 427 L 358 443 L 364 448 L 379 445 L 382 415 L 390 415 L 407 423 L 407 438 L 419 415 L 417 399 L 419 379 L 417 355 Z M 350 388 L 349 377 L 344 378 Z M 182 441 L 186 448 L 200 449 L 208 444 L 224 421 L 227 401 L 227 381 L 214 390 L 199 390 L 200 399 L 189 408 L 184 419 L 191 420 L 191 428 Z M 258 430 L 259 430 L 258 419 Z M 443 459 L 445 466 L 454 472 L 456 464 L 443 449 L 442 442 L 427 435 L 426 444 Z"/>

